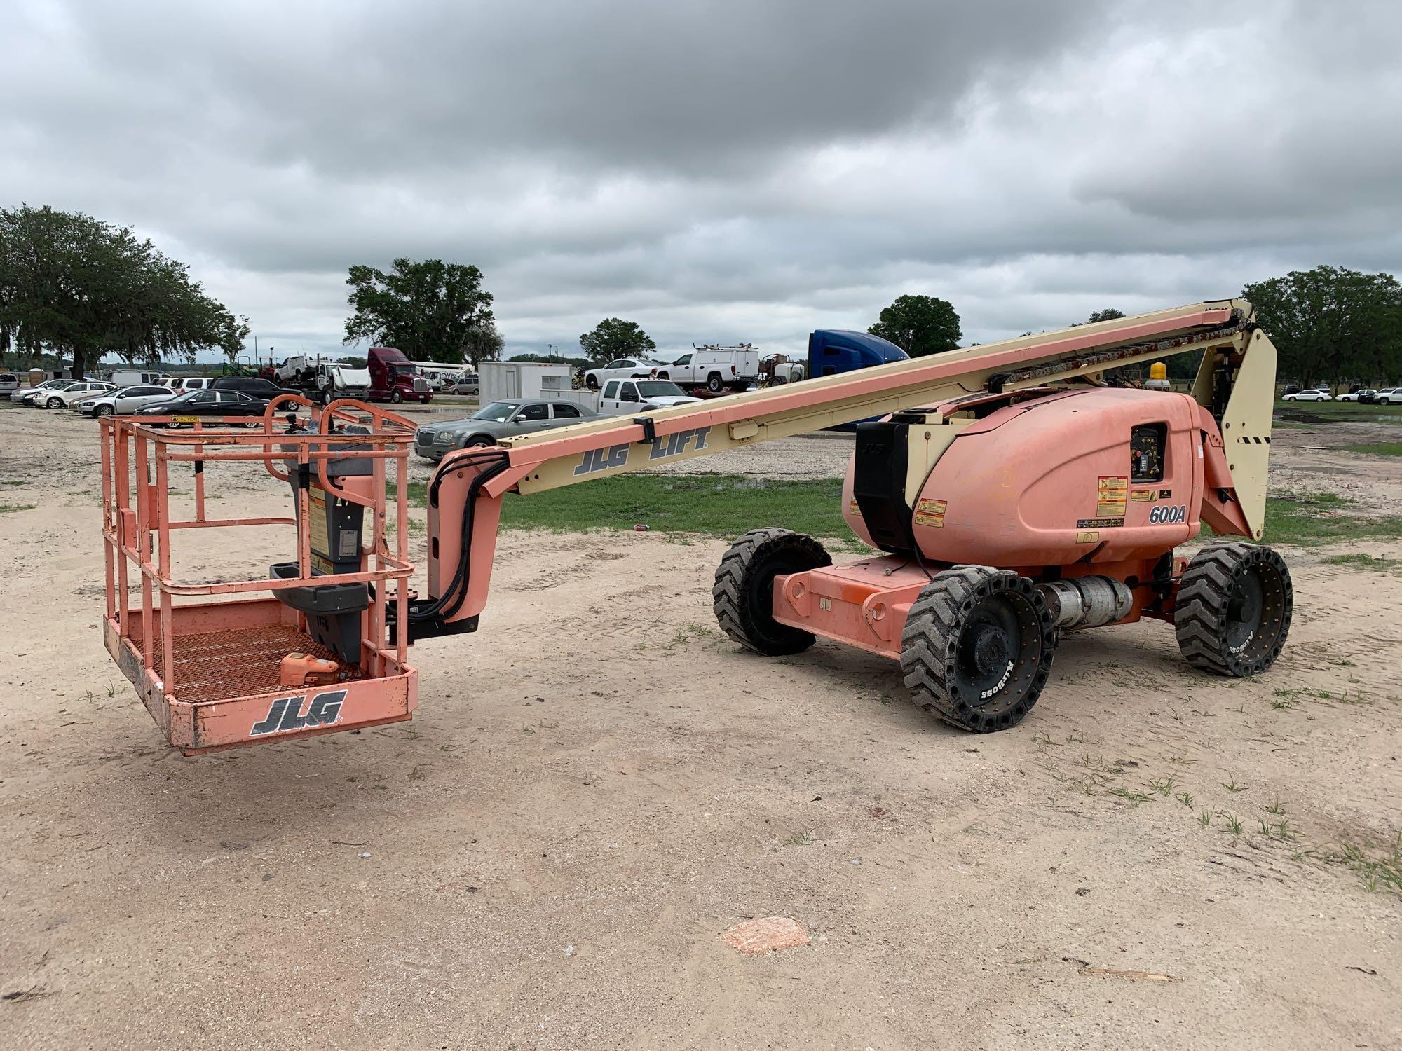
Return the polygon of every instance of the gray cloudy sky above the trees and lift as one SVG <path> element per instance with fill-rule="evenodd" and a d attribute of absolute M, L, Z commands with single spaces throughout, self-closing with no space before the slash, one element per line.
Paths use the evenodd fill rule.
<path fill-rule="evenodd" d="M 279 353 L 395 255 L 482 268 L 509 352 L 1402 269 L 1395 1 L 0 0 L 0 202 L 135 226 Z"/>

